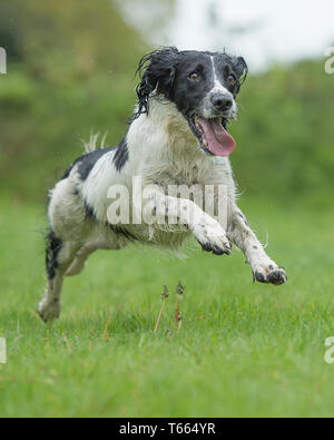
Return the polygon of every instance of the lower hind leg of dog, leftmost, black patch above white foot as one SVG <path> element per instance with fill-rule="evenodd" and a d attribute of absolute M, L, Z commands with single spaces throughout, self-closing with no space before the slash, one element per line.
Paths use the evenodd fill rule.
<path fill-rule="evenodd" d="M 48 285 L 45 296 L 38 306 L 39 315 L 45 322 L 56 320 L 60 316 L 60 295 L 63 276 L 80 247 L 77 243 L 62 242 L 53 232 L 48 235 L 47 241 L 46 264 Z"/>

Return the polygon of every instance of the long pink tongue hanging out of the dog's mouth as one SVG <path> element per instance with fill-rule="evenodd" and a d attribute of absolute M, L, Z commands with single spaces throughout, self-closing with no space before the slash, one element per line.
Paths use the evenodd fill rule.
<path fill-rule="evenodd" d="M 208 149 L 216 156 L 229 156 L 235 150 L 234 138 L 225 130 L 222 119 L 198 118 Z"/>

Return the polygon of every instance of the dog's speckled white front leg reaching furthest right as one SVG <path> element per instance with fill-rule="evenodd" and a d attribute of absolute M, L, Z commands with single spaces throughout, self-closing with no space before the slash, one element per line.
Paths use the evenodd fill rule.
<path fill-rule="evenodd" d="M 268 257 L 238 207 L 233 208 L 228 223 L 227 236 L 246 255 L 246 262 L 252 267 L 254 280 L 275 285 L 286 283 L 287 277 L 284 270 Z"/>

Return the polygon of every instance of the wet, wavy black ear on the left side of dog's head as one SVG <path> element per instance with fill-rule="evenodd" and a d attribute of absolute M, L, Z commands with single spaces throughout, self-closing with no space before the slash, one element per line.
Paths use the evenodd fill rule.
<path fill-rule="evenodd" d="M 153 91 L 164 95 L 167 99 L 171 98 L 178 53 L 176 48 L 170 47 L 141 58 L 137 69 L 137 74 L 141 74 L 141 82 L 136 88 L 138 110 L 135 119 L 141 114 L 148 114 L 148 98 Z"/>

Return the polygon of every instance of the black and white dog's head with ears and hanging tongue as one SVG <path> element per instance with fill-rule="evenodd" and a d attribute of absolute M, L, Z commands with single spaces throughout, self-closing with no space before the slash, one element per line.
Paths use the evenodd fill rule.
<path fill-rule="evenodd" d="M 138 71 L 138 111 L 149 113 L 155 95 L 175 102 L 186 118 L 203 150 L 228 156 L 235 141 L 227 133 L 227 121 L 237 114 L 235 98 L 248 72 L 242 57 L 225 52 L 178 51 L 166 48 L 145 56 Z"/>

